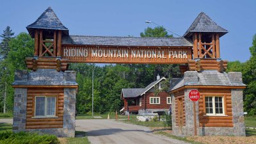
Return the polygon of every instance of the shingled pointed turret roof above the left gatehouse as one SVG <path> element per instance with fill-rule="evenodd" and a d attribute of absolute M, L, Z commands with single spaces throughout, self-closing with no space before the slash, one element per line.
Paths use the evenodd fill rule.
<path fill-rule="evenodd" d="M 33 38 L 35 36 L 35 29 L 54 29 L 61 30 L 65 35 L 68 35 L 68 28 L 66 28 L 61 21 L 58 19 L 57 15 L 53 12 L 52 8 L 49 7 L 45 10 L 38 19 L 26 27 L 29 34 Z"/>

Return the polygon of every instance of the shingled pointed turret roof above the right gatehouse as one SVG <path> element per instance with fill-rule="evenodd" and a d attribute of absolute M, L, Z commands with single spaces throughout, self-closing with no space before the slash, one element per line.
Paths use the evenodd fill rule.
<path fill-rule="evenodd" d="M 214 22 L 208 15 L 206 15 L 204 12 L 201 12 L 194 22 L 191 24 L 191 26 L 188 28 L 186 33 L 184 34 L 184 37 L 191 36 L 191 33 L 193 32 L 210 32 L 210 33 L 220 33 L 220 36 L 225 35 L 228 33 L 228 31 L 224 28 L 221 28 Z"/>

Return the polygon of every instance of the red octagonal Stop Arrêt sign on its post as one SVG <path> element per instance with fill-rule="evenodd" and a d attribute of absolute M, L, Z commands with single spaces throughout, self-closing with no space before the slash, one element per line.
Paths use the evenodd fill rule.
<path fill-rule="evenodd" d="M 200 93 L 198 90 L 191 90 L 189 92 L 189 99 L 193 101 L 193 113 L 194 113 L 194 126 L 195 126 L 195 136 L 197 135 L 196 131 L 196 101 L 200 99 Z"/>

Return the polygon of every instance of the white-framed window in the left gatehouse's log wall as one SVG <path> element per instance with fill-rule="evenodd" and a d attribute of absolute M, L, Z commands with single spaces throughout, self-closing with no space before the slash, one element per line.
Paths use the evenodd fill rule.
<path fill-rule="evenodd" d="M 35 97 L 35 117 L 56 116 L 56 97 Z"/>

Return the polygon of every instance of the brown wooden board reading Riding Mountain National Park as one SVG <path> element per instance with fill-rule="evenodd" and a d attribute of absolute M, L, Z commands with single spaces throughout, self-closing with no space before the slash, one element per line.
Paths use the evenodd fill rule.
<path fill-rule="evenodd" d="M 116 47 L 63 45 L 62 58 L 80 63 L 188 63 L 188 47 Z"/>

